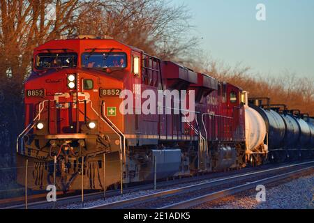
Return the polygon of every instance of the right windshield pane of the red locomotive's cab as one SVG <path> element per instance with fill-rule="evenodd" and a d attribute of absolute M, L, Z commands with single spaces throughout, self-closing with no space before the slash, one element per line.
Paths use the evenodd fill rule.
<path fill-rule="evenodd" d="M 87 68 L 126 68 L 125 53 L 84 53 L 82 66 Z"/>

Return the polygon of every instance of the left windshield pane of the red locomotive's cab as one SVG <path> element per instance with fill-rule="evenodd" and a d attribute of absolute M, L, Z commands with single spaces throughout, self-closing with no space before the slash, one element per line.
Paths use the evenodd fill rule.
<path fill-rule="evenodd" d="M 37 69 L 73 68 L 77 64 L 75 53 L 47 53 L 36 57 Z"/>

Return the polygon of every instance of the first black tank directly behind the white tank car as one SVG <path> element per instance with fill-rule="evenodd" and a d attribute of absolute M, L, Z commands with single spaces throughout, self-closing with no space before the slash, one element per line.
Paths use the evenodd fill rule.
<path fill-rule="evenodd" d="M 264 119 L 266 130 L 268 132 L 269 151 L 283 148 L 283 140 L 285 138 L 285 122 L 281 115 L 273 110 L 262 109 L 255 105 L 250 105 Z"/>

